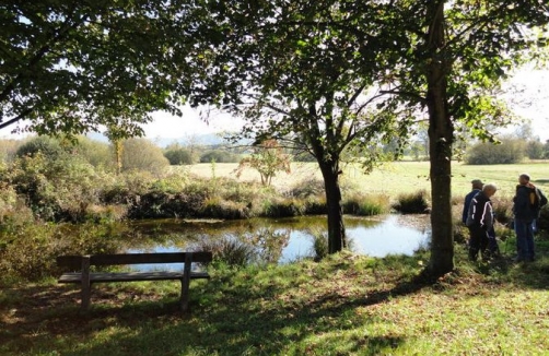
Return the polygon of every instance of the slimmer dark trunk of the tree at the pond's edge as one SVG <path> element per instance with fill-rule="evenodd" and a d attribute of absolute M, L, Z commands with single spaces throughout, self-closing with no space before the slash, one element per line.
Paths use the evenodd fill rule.
<path fill-rule="evenodd" d="M 328 207 L 328 252 L 336 253 L 347 248 L 343 206 L 341 205 L 341 189 L 339 187 L 339 165 L 320 162 L 320 159 L 318 163 L 323 173 Z"/>

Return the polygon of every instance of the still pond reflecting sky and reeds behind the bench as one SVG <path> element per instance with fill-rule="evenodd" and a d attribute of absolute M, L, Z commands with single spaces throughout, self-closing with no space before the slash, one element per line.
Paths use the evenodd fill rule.
<path fill-rule="evenodd" d="M 429 215 L 344 217 L 351 249 L 359 254 L 413 254 L 430 241 Z M 326 234 L 326 216 L 252 218 L 246 221 L 155 219 L 131 223 L 136 239 L 124 252 L 175 252 L 205 239 L 240 239 L 279 247 L 278 263 L 314 256 L 313 235 Z M 272 241 L 276 240 L 276 244 Z M 279 244 L 279 241 L 283 240 Z M 272 251 L 271 251 L 272 252 Z M 178 268 L 178 266 L 174 266 Z"/>

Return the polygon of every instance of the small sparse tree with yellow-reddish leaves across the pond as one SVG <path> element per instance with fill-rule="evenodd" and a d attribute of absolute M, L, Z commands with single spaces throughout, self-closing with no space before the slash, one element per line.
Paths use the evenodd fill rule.
<path fill-rule="evenodd" d="M 243 158 L 235 169 L 236 177 L 241 177 L 247 167 L 259 171 L 261 185 L 270 186 L 272 177 L 283 170 L 290 173 L 290 156 L 285 154 L 277 140 L 266 140 L 254 149 L 254 153 Z"/>

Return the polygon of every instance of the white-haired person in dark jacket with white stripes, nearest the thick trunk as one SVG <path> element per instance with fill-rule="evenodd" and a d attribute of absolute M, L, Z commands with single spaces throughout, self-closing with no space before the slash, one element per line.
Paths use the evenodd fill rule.
<path fill-rule="evenodd" d="M 490 198 L 495 194 L 498 188 L 493 183 L 482 187 L 482 191 L 477 193 L 469 205 L 466 224 L 469 227 L 469 259 L 476 261 L 479 251 L 483 259 L 488 259 L 488 232 L 493 227 L 493 209 Z"/>

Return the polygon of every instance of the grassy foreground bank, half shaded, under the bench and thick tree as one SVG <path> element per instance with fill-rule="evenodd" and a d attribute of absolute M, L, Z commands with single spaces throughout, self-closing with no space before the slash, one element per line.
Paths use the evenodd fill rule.
<path fill-rule="evenodd" d="M 322 263 L 213 271 L 177 283 L 98 285 L 79 315 L 74 287 L 0 292 L 2 355 L 544 355 L 549 259 L 471 264 L 417 280 L 427 256 L 339 254 Z"/>

